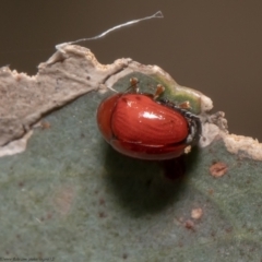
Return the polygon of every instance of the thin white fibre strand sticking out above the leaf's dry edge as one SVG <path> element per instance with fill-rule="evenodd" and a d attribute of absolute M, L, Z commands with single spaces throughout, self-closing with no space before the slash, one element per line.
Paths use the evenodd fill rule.
<path fill-rule="evenodd" d="M 132 21 L 126 22 L 123 24 L 116 25 L 116 26 L 114 26 L 114 27 L 103 32 L 102 34 L 99 34 L 97 36 L 93 36 L 93 37 L 88 37 L 88 38 L 81 38 L 81 39 L 78 39 L 78 40 L 74 40 L 74 41 L 67 41 L 67 43 L 62 43 L 62 44 L 56 45 L 56 49 L 61 51 L 61 48 L 67 46 L 67 45 L 78 44 L 80 41 L 95 40 L 95 39 L 98 39 L 98 38 L 102 38 L 102 37 L 106 36 L 107 34 L 109 34 L 112 31 L 120 29 L 121 27 L 124 27 L 124 26 L 128 26 L 128 25 L 132 25 L 132 24 L 142 22 L 142 21 L 145 21 L 145 20 L 163 19 L 163 17 L 164 17 L 164 15 L 163 15 L 162 11 L 158 11 L 158 12 L 156 12 L 153 15 L 145 16 L 143 19 L 132 20 Z"/>

